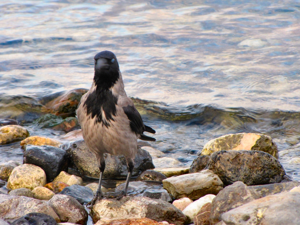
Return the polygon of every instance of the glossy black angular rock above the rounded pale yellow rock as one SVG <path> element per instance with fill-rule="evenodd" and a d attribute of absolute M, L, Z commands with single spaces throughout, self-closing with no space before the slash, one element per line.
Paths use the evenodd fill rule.
<path fill-rule="evenodd" d="M 23 158 L 23 164 L 25 163 L 41 167 L 46 173 L 47 181 L 52 181 L 61 171 L 68 170 L 68 154 L 53 146 L 27 145 Z"/>

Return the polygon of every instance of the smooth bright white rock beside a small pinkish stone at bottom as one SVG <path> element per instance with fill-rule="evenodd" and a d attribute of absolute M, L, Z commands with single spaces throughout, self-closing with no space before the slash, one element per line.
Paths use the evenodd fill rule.
<path fill-rule="evenodd" d="M 215 195 L 213 194 L 208 194 L 205 195 L 198 200 L 190 203 L 182 212 L 184 215 L 186 215 L 187 219 L 189 221 L 193 221 L 194 217 L 198 214 L 200 209 L 202 208 L 203 205 L 205 205 L 208 202 L 211 202 L 212 199 L 214 199 Z"/>

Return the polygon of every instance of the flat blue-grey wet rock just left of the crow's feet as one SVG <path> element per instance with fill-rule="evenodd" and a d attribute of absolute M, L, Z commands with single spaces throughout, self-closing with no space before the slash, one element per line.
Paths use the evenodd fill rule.
<path fill-rule="evenodd" d="M 89 187 L 73 184 L 65 187 L 59 194 L 64 194 L 75 198 L 81 205 L 88 203 L 94 197 L 93 191 Z"/>

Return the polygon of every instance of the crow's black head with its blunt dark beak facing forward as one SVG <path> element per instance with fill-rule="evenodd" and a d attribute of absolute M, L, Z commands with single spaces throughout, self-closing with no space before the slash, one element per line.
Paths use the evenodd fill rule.
<path fill-rule="evenodd" d="M 94 57 L 97 88 L 109 89 L 119 79 L 119 64 L 116 55 L 110 51 L 99 52 Z"/>

